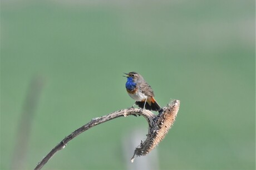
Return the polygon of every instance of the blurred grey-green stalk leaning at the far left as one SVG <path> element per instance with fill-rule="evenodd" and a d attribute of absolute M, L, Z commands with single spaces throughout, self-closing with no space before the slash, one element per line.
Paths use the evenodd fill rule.
<path fill-rule="evenodd" d="M 41 96 L 43 79 L 35 76 L 29 85 L 27 97 L 24 102 L 23 112 L 18 122 L 16 145 L 14 146 L 12 169 L 26 169 L 27 147 L 31 131 L 33 116 Z"/>

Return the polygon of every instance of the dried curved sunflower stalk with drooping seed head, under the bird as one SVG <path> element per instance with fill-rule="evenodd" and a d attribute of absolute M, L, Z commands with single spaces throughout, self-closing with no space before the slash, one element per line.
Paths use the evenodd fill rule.
<path fill-rule="evenodd" d="M 80 133 L 88 130 L 89 128 L 121 116 L 126 117 L 129 115 L 142 115 L 149 123 L 149 132 L 147 134 L 147 139 L 142 142 L 141 145 L 134 151 L 134 156 L 131 159 L 131 161 L 133 162 L 135 156 L 146 155 L 152 149 L 154 149 L 161 140 L 164 139 L 169 128 L 171 127 L 171 125 L 173 125 L 175 121 L 175 117 L 179 110 L 179 105 L 179 100 L 173 100 L 167 107 L 163 108 L 163 114 L 157 116 L 149 110 L 130 108 L 115 111 L 109 115 L 92 119 L 91 122 L 88 122 L 86 125 L 83 125 L 82 127 L 72 132 L 70 135 L 65 137 L 55 148 L 51 150 L 50 153 L 47 154 L 45 158 L 42 159 L 40 163 L 37 164 L 35 169 L 41 169 L 49 161 L 53 154 L 65 148 L 69 141 L 80 135 Z"/>

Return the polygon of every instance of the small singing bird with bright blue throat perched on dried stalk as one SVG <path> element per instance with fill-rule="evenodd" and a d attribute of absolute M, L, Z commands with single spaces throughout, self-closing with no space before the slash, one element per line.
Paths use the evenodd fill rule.
<path fill-rule="evenodd" d="M 142 76 L 134 71 L 124 74 L 126 74 L 124 77 L 127 78 L 125 84 L 126 91 L 132 99 L 136 100 L 135 104 L 142 109 L 159 111 L 161 113 L 163 110 L 154 99 L 154 91 Z"/>

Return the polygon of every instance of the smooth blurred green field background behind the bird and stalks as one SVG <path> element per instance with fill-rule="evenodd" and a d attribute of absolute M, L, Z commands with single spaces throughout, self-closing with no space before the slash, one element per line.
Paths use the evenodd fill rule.
<path fill-rule="evenodd" d="M 23 169 L 93 117 L 130 107 L 122 73 L 137 71 L 161 106 L 181 101 L 157 147 L 159 169 L 255 169 L 254 8 L 253 0 L 2 1 L 0 168 L 11 169 L 23 148 L 33 78 L 43 85 Z M 43 169 L 126 169 L 122 139 L 136 129 L 146 135 L 142 117 L 96 126 Z"/>

